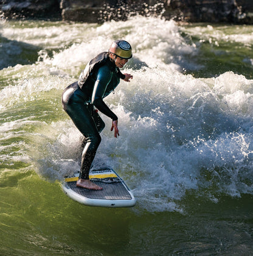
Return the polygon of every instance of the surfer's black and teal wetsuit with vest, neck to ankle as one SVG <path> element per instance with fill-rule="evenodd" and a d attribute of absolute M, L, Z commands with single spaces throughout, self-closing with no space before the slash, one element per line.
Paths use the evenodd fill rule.
<path fill-rule="evenodd" d="M 117 87 L 120 78 L 124 79 L 125 75 L 109 59 L 108 53 L 102 52 L 89 62 L 78 82 L 63 91 L 63 108 L 85 137 L 80 179 L 89 179 L 89 169 L 101 142 L 99 133 L 105 128 L 105 123 L 94 106 L 113 121 L 117 120 L 117 116 L 103 102 L 103 98 Z"/>

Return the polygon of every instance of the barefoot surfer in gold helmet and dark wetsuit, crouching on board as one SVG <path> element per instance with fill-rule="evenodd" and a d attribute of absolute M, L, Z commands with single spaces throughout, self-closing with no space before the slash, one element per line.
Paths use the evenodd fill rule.
<path fill-rule="evenodd" d="M 111 131 L 119 136 L 118 118 L 103 101 L 117 87 L 120 79 L 130 82 L 131 74 L 122 74 L 119 68 L 132 57 L 130 44 L 125 40 L 113 41 L 108 52 L 92 59 L 80 74 L 77 82 L 69 85 L 62 96 L 63 109 L 68 113 L 78 130 L 83 134 L 83 153 L 77 187 L 102 190 L 89 180 L 89 169 L 101 142 L 100 132 L 105 123 L 97 110 L 112 119 Z"/>

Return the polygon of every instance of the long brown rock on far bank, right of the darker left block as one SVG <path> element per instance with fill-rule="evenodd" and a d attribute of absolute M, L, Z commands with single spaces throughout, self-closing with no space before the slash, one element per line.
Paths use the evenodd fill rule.
<path fill-rule="evenodd" d="M 61 0 L 61 9 L 63 20 L 72 21 L 126 20 L 139 14 L 159 15 L 177 21 L 250 24 L 253 13 L 250 1 L 238 0 L 241 5 L 248 4 L 251 10 L 248 17 L 243 6 L 235 0 Z"/>

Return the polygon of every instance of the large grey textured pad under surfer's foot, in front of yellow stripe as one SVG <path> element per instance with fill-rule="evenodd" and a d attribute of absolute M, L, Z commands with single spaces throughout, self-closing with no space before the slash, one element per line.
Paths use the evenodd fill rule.
<path fill-rule="evenodd" d="M 121 182 L 98 182 L 92 180 L 95 184 L 103 188 L 103 190 L 87 190 L 86 188 L 77 187 L 77 182 L 66 182 L 71 190 L 75 193 L 90 199 L 107 199 L 107 200 L 131 200 L 131 194 L 126 190 Z"/>

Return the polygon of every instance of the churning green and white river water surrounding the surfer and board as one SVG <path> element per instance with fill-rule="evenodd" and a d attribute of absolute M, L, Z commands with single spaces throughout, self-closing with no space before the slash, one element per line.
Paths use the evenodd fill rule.
<path fill-rule="evenodd" d="M 80 168 L 63 89 L 113 40 L 133 47 L 106 104 L 93 168 L 111 166 L 133 208 L 61 191 Z M 253 26 L 136 16 L 102 25 L 1 21 L 0 255 L 252 255 Z"/>

